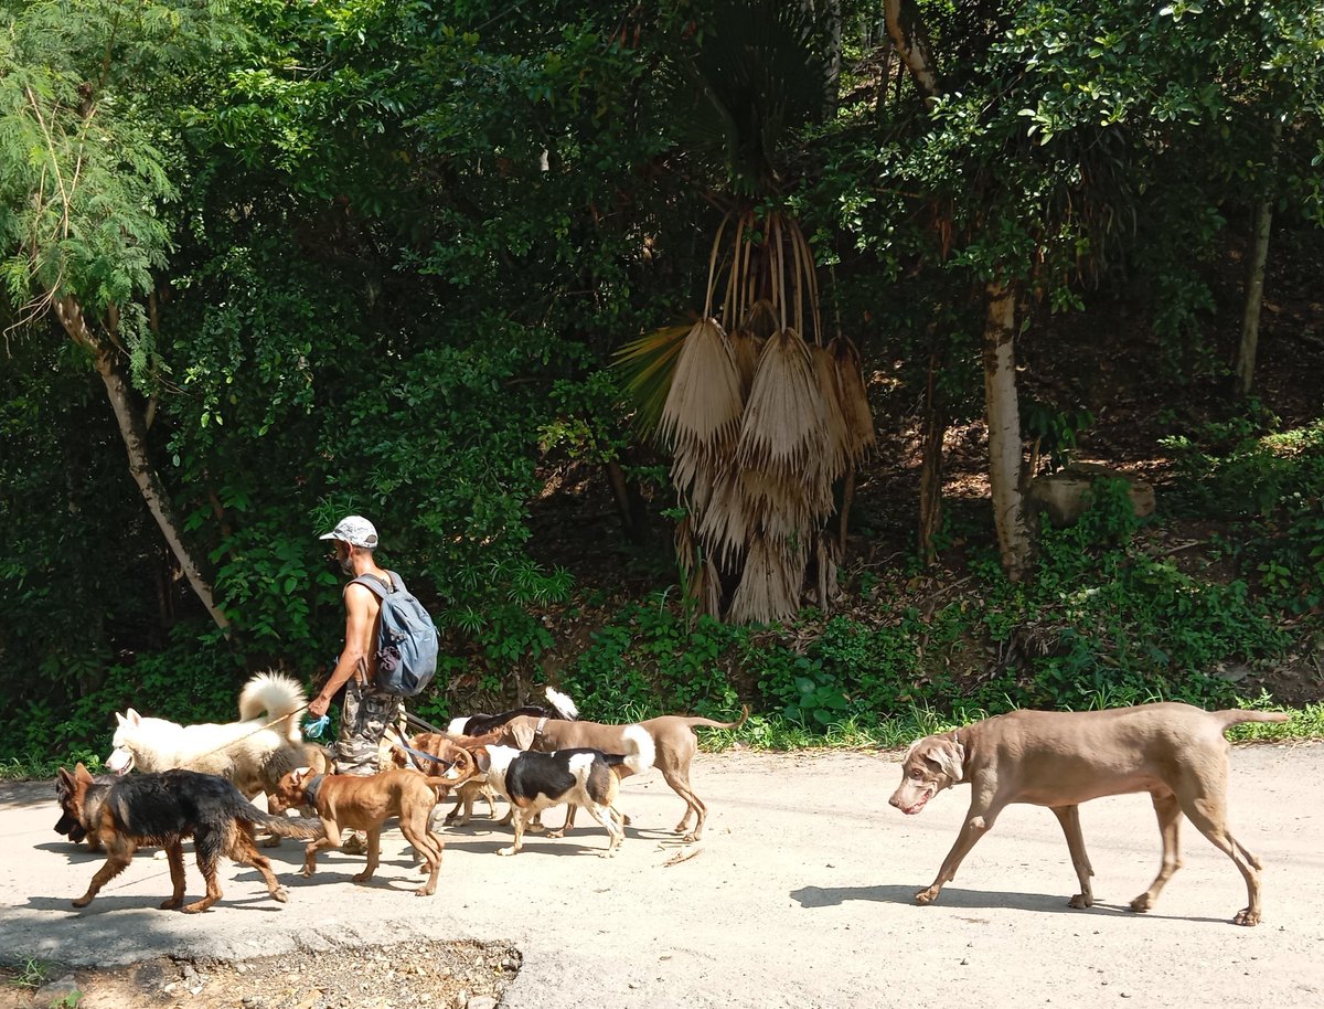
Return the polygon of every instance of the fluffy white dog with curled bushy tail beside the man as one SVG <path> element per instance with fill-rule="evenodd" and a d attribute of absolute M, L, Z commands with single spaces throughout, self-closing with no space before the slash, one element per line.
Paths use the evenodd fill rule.
<path fill-rule="evenodd" d="M 181 726 L 134 708 L 115 712 L 115 749 L 106 768 L 117 775 L 177 767 L 220 775 L 253 798 L 271 791 L 293 767 L 307 765 L 307 751 L 322 752 L 303 742 L 298 715 L 306 707 L 303 687 L 294 679 L 260 673 L 244 685 L 238 722 Z"/>

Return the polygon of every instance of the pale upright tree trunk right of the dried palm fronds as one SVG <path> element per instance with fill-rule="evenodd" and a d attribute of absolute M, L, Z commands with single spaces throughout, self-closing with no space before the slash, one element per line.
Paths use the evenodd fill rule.
<path fill-rule="evenodd" d="M 998 552 L 1008 579 L 1030 567 L 1030 531 L 1021 495 L 1021 410 L 1016 393 L 1016 297 L 989 283 L 984 320 L 984 399 L 989 425 L 989 485 Z"/>

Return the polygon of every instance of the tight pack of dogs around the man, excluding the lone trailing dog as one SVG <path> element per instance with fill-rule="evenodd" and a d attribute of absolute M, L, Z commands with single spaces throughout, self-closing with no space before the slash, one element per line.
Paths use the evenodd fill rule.
<path fill-rule="evenodd" d="M 703 804 L 688 784 L 698 740 L 687 727 L 690 739 L 678 745 L 678 726 L 735 728 L 748 718 L 748 708 L 735 722 L 673 716 L 675 724 L 602 726 L 579 722 L 575 703 L 564 694 L 548 689 L 547 697 L 549 707 L 471 715 L 453 720 L 445 732 L 409 738 L 388 732 L 384 769 L 359 776 L 334 773 L 332 753 L 303 739 L 299 715 L 307 707 L 306 694 L 297 681 L 277 673 L 258 674 L 244 686 L 240 718 L 229 723 L 183 726 L 134 708 L 117 712 L 113 749 L 105 761 L 114 773 L 94 779 L 78 764 L 73 771 L 61 768 L 56 781 L 56 832 L 106 853 L 106 863 L 73 904 L 86 907 L 139 847 L 159 847 L 168 859 L 173 889 L 163 908 L 197 912 L 214 904 L 221 898 L 217 866 L 222 855 L 257 869 L 270 896 L 283 903 L 287 891 L 257 849 L 258 832 L 270 836 L 269 845 L 285 837 L 307 841 L 303 877 L 316 871 L 319 853 L 342 846 L 343 832 L 363 832 L 367 865 L 354 881 L 367 883 L 380 865 L 387 821 L 399 824 L 428 877 L 413 892 L 430 896 L 437 891 L 444 846 L 433 813 L 450 794 L 457 801 L 446 822 L 457 821 L 463 809 L 459 824 L 467 824 L 479 796 L 487 798 L 491 816 L 496 796 L 508 804 L 502 824 L 512 825 L 515 838 L 499 849 L 500 855 L 518 853 L 526 830 L 539 829 L 542 812 L 563 804 L 568 805 L 567 824 L 548 836 L 563 836 L 573 826 L 575 810 L 584 806 L 606 829 L 601 854 L 613 855 L 629 824 L 616 805 L 620 780 L 654 765 L 687 804 L 682 822 L 691 809 L 699 812 L 698 830 L 681 833 L 694 840 L 702 832 Z M 559 728 L 565 724 L 581 726 L 584 732 L 565 734 Z M 682 773 L 674 771 L 677 752 L 685 755 Z M 659 753 L 666 755 L 665 764 Z M 253 804 L 258 796 L 266 797 L 269 812 Z M 188 840 L 207 895 L 184 904 L 183 842 Z"/>

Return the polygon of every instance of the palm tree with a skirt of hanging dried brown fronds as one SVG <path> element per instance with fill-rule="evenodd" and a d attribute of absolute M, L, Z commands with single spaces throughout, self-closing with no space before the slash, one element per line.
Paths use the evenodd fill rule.
<path fill-rule="evenodd" d="M 642 426 L 671 453 L 686 589 L 736 622 L 793 616 L 810 576 L 828 605 L 854 469 L 874 445 L 859 355 L 825 340 L 813 252 L 777 199 L 779 136 L 830 97 L 813 26 L 797 5 L 718 5 L 686 65 L 688 122 L 720 138 L 728 191 L 716 197 L 731 205 L 703 311 L 618 355 Z"/>

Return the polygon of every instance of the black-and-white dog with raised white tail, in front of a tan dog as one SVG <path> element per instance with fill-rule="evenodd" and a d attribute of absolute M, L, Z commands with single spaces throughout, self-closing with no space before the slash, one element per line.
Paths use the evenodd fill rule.
<path fill-rule="evenodd" d="M 519 851 L 526 825 L 542 810 L 561 802 L 580 805 L 606 828 L 608 846 L 602 857 L 616 854 L 625 837 L 625 817 L 616 808 L 620 775 L 626 767 L 633 773 L 653 767 L 653 738 L 639 726 L 629 726 L 624 735 L 629 753 L 604 753 L 600 749 L 559 749 L 553 753 L 485 745 L 474 751 L 478 769 L 510 802 L 515 826 L 515 843 L 498 850 L 499 855 Z"/>

